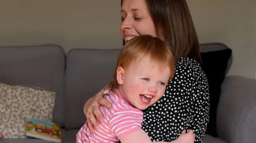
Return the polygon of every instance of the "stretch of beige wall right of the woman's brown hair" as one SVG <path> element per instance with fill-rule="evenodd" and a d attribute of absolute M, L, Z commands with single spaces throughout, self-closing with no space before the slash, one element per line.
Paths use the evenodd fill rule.
<path fill-rule="evenodd" d="M 188 0 L 201 43 L 222 42 L 233 50 L 230 75 L 254 77 L 256 1 Z"/>

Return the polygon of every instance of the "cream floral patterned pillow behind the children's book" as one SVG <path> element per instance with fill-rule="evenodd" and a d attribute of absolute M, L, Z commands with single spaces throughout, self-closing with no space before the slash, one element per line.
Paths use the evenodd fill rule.
<path fill-rule="evenodd" d="M 26 138 L 25 118 L 52 121 L 55 92 L 0 83 L 0 133 Z"/>

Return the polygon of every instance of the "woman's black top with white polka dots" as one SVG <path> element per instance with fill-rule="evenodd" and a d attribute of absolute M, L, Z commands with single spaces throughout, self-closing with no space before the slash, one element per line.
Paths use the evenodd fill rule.
<path fill-rule="evenodd" d="M 192 129 L 194 143 L 202 143 L 209 121 L 208 81 L 195 59 L 182 57 L 164 96 L 144 111 L 142 129 L 152 141 L 174 141 Z"/>

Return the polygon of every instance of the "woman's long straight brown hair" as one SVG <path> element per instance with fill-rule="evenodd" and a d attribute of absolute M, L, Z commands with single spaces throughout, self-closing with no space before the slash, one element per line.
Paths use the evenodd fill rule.
<path fill-rule="evenodd" d="M 199 41 L 186 0 L 144 0 L 154 22 L 156 35 L 181 57 L 196 58 L 202 63 Z M 123 0 L 121 0 L 122 5 Z"/>

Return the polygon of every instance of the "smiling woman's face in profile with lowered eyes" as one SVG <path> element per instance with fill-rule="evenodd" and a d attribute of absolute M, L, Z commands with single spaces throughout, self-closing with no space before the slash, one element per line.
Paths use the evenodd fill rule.
<path fill-rule="evenodd" d="M 156 37 L 154 22 L 144 0 L 123 0 L 121 16 L 120 32 L 124 41 L 146 34 Z"/>

